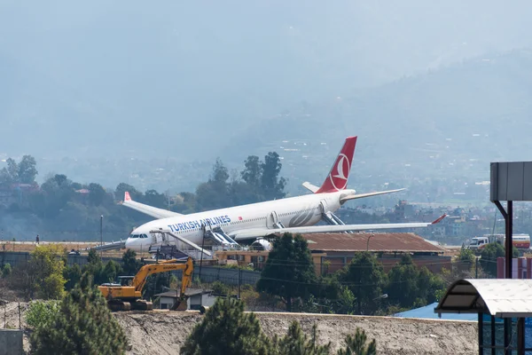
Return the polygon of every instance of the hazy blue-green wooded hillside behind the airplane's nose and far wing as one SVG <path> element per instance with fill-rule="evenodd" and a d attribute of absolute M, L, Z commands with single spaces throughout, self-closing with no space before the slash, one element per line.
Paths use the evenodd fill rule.
<path fill-rule="evenodd" d="M 145 193 L 121 183 L 105 189 L 98 183 L 74 182 L 64 174 L 47 177 L 42 185 L 35 158 L 25 155 L 20 162 L 7 160 L 0 170 L 0 239 L 41 241 L 97 241 L 100 216 L 104 217 L 106 241 L 127 238 L 138 225 L 153 219 L 120 205 L 128 191 L 133 200 L 178 213 L 193 213 L 285 197 L 286 180 L 277 153 L 264 159 L 249 156 L 240 172 L 230 175 L 223 162 L 216 161 L 207 181 L 195 193 Z"/>

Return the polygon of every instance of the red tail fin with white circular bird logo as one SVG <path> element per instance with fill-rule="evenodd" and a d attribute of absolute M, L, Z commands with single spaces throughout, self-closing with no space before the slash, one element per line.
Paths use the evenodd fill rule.
<path fill-rule="evenodd" d="M 324 184 L 321 185 L 316 193 L 334 193 L 348 187 L 349 170 L 355 154 L 356 137 L 346 138 L 340 154 L 332 164 L 329 175 L 325 178 Z"/>

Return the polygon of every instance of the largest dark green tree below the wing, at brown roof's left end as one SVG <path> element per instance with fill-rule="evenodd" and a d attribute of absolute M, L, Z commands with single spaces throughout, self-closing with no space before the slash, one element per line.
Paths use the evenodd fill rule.
<path fill-rule="evenodd" d="M 300 234 L 285 233 L 273 242 L 257 290 L 279 296 L 291 312 L 293 298 L 308 298 L 317 287 L 316 280 L 307 241 Z"/>

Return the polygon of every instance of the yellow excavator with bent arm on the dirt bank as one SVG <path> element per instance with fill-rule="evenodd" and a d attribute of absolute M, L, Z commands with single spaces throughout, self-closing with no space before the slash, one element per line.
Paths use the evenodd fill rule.
<path fill-rule="evenodd" d="M 186 298 L 184 291 L 191 286 L 192 272 L 194 265 L 192 257 L 186 262 L 177 263 L 176 259 L 165 260 L 157 264 L 146 264 L 140 268 L 135 276 L 120 276 L 117 283 L 104 283 L 98 289 L 106 297 L 107 304 L 111 311 L 142 310 L 152 311 L 153 303 L 142 299 L 142 289 L 145 287 L 146 279 L 153 273 L 171 272 L 183 270 L 181 279 L 180 294 L 176 299 L 176 304 L 172 307 L 176 311 L 186 310 Z"/>

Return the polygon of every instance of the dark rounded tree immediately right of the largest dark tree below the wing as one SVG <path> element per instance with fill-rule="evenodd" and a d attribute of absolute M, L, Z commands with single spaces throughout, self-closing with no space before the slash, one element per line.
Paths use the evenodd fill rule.
<path fill-rule="evenodd" d="M 372 253 L 358 253 L 340 272 L 340 281 L 348 285 L 356 297 L 357 313 L 371 314 L 377 309 L 375 299 L 382 295 L 386 274 Z"/>

